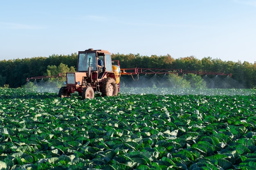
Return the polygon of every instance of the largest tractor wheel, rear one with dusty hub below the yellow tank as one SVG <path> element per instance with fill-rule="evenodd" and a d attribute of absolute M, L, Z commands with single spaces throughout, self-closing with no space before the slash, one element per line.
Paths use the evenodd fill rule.
<path fill-rule="evenodd" d="M 113 78 L 107 78 L 105 82 L 103 82 L 101 89 L 102 96 L 117 96 L 118 86 L 117 82 Z"/>

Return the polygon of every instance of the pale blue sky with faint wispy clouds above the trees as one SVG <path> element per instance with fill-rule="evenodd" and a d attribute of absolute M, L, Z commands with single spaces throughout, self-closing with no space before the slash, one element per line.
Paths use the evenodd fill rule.
<path fill-rule="evenodd" d="M 2 0 L 0 60 L 85 49 L 256 61 L 256 0 Z"/>

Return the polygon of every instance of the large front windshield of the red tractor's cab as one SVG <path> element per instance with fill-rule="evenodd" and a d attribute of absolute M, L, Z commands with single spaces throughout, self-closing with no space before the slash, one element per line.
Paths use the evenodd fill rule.
<path fill-rule="evenodd" d="M 88 71 L 88 67 L 92 71 L 97 70 L 96 54 L 95 53 L 80 53 L 78 59 L 78 71 Z"/>

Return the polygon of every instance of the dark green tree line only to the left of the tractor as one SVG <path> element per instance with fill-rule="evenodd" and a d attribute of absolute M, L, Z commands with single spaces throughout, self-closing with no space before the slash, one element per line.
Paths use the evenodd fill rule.
<path fill-rule="evenodd" d="M 49 57 L 32 57 L 24 59 L 0 61 L 0 86 L 7 84 L 10 88 L 18 88 L 27 83 L 27 77 L 47 74 L 47 67 L 59 66 L 76 68 L 77 53 L 71 55 L 51 55 Z"/>

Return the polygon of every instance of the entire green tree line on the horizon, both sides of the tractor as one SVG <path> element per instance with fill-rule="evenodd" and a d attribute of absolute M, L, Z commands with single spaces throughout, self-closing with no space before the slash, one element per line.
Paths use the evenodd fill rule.
<path fill-rule="evenodd" d="M 0 61 L 0 87 L 8 85 L 18 88 L 26 84 L 27 77 L 54 75 L 57 72 L 76 71 L 77 53 L 71 55 L 51 55 Z M 171 68 L 189 71 L 231 73 L 232 79 L 244 88 L 256 87 L 256 63 L 233 62 L 194 56 L 174 59 L 171 55 L 141 56 L 139 54 L 112 54 L 112 60 L 119 60 L 121 68 Z M 123 75 L 122 75 L 123 76 Z M 201 75 L 202 76 L 202 75 Z M 124 76 L 126 77 L 126 76 Z"/>

